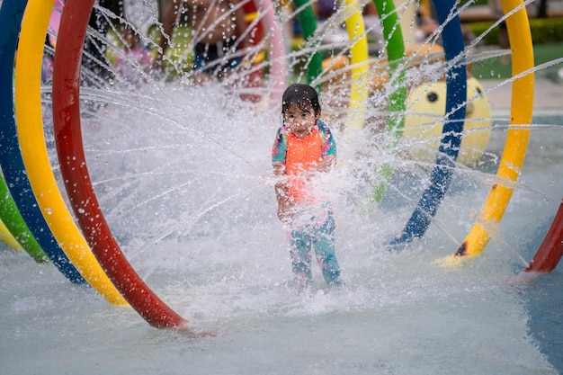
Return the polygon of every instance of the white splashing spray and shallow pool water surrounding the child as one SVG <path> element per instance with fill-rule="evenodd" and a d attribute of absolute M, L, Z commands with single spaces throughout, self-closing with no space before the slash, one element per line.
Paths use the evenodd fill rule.
<path fill-rule="evenodd" d="M 147 32 L 141 31 L 144 40 Z M 121 53 L 114 42 L 109 49 Z M 313 49 L 289 54 L 290 67 Z M 478 64 L 500 55 L 474 56 Z M 381 146 L 394 142 L 381 131 L 389 116 L 383 103 L 394 87 L 371 94 L 366 126 L 351 132 L 345 129 L 349 85 L 332 82 L 321 99 L 339 163 L 317 188 L 335 201 L 336 255 L 346 286 L 326 289 L 316 267 L 313 287 L 299 292 L 272 188 L 279 110 L 242 100 L 245 89 L 234 84 L 236 76 L 192 85 L 182 64 L 174 62 L 178 76 L 169 82 L 135 67 L 145 78 L 140 82 L 116 72 L 109 90 L 81 89 L 83 100 L 103 104 L 82 119 L 84 146 L 104 215 L 130 263 L 193 326 L 219 335 L 192 340 L 149 328 L 131 309 L 110 306 L 51 265 L 2 247 L 0 358 L 6 373 L 563 371 L 553 344 L 560 336 L 550 338 L 563 326 L 548 312 L 561 299 L 559 272 L 528 285 L 514 281 L 549 228 L 563 190 L 561 112 L 522 124 L 532 129 L 523 174 L 485 253 L 442 268 L 433 261 L 459 246 L 496 182 L 505 114 L 487 119 L 490 139 L 476 165 L 456 165 L 424 237 L 392 252 L 389 240 L 416 207 L 433 163 L 408 153 L 424 141 L 401 138 L 394 149 Z M 441 62 L 419 67 L 407 81 L 432 81 L 444 70 Z M 499 87 L 487 85 L 485 94 Z M 268 90 L 267 81 L 257 89 L 262 97 Z M 57 173 L 49 85 L 44 92 Z M 395 174 L 378 204 L 371 190 L 384 182 L 378 173 L 383 163 Z"/>

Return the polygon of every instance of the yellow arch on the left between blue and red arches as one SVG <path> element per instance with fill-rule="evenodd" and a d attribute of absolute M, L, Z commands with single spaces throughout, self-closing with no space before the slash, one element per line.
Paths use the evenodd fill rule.
<path fill-rule="evenodd" d="M 76 227 L 49 163 L 41 115 L 40 69 L 54 4 L 54 0 L 30 0 L 23 15 L 15 68 L 15 115 L 23 163 L 40 210 L 68 259 L 105 299 L 126 305 Z"/>

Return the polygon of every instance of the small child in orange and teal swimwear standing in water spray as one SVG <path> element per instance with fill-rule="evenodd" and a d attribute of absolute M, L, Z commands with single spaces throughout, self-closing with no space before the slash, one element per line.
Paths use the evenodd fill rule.
<path fill-rule="evenodd" d="M 335 218 L 332 203 L 312 189 L 318 173 L 336 163 L 335 139 L 319 120 L 317 92 L 310 85 L 290 85 L 281 103 L 282 125 L 272 149 L 273 173 L 283 176 L 275 185 L 278 218 L 290 238 L 295 282 L 311 281 L 311 247 L 315 250 L 326 284 L 341 286 L 335 257 Z"/>

